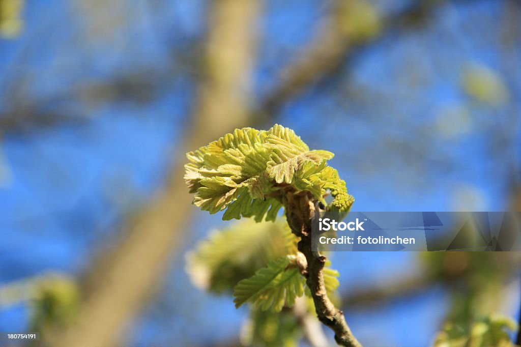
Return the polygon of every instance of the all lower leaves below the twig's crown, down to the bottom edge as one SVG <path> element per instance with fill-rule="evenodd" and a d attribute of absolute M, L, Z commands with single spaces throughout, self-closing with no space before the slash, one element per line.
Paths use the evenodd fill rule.
<path fill-rule="evenodd" d="M 295 317 L 283 309 L 305 294 L 308 310 L 314 312 L 297 266 L 297 241 L 283 218 L 274 223 L 244 219 L 214 230 L 188 254 L 187 271 L 195 286 L 217 294 L 233 291 L 237 307 L 251 304 L 242 334 L 245 345 L 289 347 L 302 336 Z M 337 302 L 338 276 L 336 270 L 324 269 L 328 295 Z"/>

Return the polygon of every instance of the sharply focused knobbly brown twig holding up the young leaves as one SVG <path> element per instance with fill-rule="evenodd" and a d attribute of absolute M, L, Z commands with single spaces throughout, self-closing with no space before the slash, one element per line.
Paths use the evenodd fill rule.
<path fill-rule="evenodd" d="M 334 331 L 334 339 L 339 345 L 348 347 L 361 347 L 345 322 L 344 314 L 334 307 L 329 300 L 324 284 L 324 266 L 327 258 L 313 252 L 311 248 L 311 221 L 315 215 L 315 205 L 307 195 L 302 192 L 294 194 L 288 192 L 282 197 L 286 208 L 286 218 L 291 231 L 300 237 L 299 251 L 304 254 L 307 268 L 303 270 L 306 284 L 311 291 L 318 319 Z"/>

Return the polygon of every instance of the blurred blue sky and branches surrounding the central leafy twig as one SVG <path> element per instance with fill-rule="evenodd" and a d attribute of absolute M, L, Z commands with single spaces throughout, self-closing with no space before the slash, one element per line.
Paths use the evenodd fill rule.
<path fill-rule="evenodd" d="M 515 0 L 0 0 L 0 331 L 252 342 L 185 260 L 229 222 L 184 153 L 238 127 L 334 152 L 358 211 L 520 210 L 520 61 Z M 519 315 L 514 252 L 332 258 L 364 345 Z"/>

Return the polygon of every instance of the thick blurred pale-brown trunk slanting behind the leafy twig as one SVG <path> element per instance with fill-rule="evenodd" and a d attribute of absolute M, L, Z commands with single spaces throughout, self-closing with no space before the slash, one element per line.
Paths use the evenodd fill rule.
<path fill-rule="evenodd" d="M 166 276 L 194 210 L 182 179 L 184 153 L 246 124 L 258 0 L 211 2 L 200 83 L 190 129 L 165 188 L 125 227 L 120 242 L 90 269 L 88 295 L 75 325 L 46 331 L 53 346 L 118 345 L 123 330 Z"/>

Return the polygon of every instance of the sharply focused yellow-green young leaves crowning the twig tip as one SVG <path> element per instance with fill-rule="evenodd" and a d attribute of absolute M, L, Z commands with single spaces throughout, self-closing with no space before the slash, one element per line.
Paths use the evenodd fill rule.
<path fill-rule="evenodd" d="M 354 201 L 337 170 L 327 165 L 333 154 L 309 150 L 293 130 L 280 125 L 236 129 L 187 157 L 184 178 L 195 194 L 193 203 L 212 214 L 226 209 L 224 220 L 275 220 L 282 207 L 276 195 L 288 186 L 322 203 L 331 190 L 332 210 L 347 211 Z"/>

